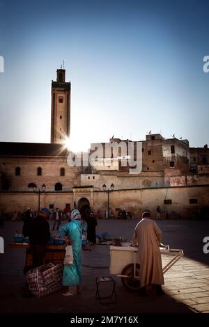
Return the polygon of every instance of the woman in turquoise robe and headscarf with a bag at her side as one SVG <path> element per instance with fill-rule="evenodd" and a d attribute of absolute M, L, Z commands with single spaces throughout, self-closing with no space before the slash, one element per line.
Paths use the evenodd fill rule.
<path fill-rule="evenodd" d="M 70 222 L 59 228 L 61 237 L 72 245 L 73 264 L 64 264 L 63 286 L 68 286 L 65 296 L 74 296 L 79 293 L 82 282 L 82 221 L 78 210 L 72 210 Z"/>

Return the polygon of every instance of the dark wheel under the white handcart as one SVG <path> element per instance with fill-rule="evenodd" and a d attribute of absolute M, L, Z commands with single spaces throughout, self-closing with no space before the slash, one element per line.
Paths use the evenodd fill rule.
<path fill-rule="evenodd" d="M 139 276 L 140 265 L 136 264 L 136 273 Z M 128 264 L 123 269 L 121 275 L 127 275 L 128 277 L 121 277 L 121 282 L 125 289 L 131 292 L 137 292 L 140 289 L 140 280 L 134 278 L 134 264 Z"/>

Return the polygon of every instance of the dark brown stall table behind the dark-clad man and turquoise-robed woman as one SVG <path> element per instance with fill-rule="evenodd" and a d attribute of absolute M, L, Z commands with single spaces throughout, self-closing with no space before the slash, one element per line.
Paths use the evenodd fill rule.
<path fill-rule="evenodd" d="M 32 266 L 32 254 L 30 244 L 28 243 L 11 243 L 11 248 L 25 248 L 26 257 L 25 257 L 25 266 L 24 273 L 29 271 Z M 65 257 L 65 245 L 51 245 L 47 246 L 45 253 L 45 264 L 52 262 L 52 264 L 63 264 Z"/>

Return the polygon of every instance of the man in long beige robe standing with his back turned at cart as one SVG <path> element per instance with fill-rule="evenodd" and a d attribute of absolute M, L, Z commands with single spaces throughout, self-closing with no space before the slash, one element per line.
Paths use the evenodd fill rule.
<path fill-rule="evenodd" d="M 138 260 L 140 263 L 141 295 L 146 295 L 146 285 L 155 284 L 156 294 L 162 295 L 164 277 L 162 273 L 162 260 L 160 242 L 162 232 L 155 221 L 150 219 L 150 212 L 142 214 L 141 221 L 137 224 L 132 245 L 138 246 Z"/>

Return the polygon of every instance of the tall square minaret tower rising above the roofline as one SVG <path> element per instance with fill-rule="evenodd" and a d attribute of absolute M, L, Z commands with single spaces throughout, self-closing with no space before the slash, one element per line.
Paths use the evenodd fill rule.
<path fill-rule="evenodd" d="M 65 82 L 63 68 L 56 70 L 56 81 L 52 81 L 51 143 L 65 143 L 70 137 L 71 84 Z"/>

